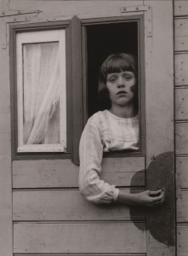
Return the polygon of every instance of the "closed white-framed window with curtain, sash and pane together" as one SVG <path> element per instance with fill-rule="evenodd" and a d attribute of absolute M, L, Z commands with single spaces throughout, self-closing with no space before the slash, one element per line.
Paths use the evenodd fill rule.
<path fill-rule="evenodd" d="M 66 152 L 66 30 L 16 35 L 18 153 Z"/>

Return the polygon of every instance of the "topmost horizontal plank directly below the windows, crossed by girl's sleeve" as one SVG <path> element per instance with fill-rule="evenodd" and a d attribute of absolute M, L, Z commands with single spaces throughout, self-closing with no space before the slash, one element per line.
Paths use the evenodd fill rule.
<path fill-rule="evenodd" d="M 105 158 L 101 178 L 129 186 L 134 177 L 134 186 L 144 186 L 144 170 L 144 157 Z M 14 160 L 13 188 L 77 188 L 78 172 L 71 160 Z"/>

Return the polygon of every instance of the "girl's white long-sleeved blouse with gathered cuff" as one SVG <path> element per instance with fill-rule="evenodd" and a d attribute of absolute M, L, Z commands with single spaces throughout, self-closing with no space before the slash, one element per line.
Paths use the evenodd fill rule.
<path fill-rule="evenodd" d="M 104 110 L 88 119 L 79 147 L 79 188 L 88 201 L 99 204 L 117 201 L 119 189 L 100 179 L 103 152 L 138 150 L 138 143 L 138 116 L 124 119 Z"/>

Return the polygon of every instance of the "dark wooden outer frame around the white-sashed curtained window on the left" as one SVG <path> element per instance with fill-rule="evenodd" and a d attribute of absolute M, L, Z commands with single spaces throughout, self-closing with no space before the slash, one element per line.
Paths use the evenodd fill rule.
<path fill-rule="evenodd" d="M 18 111 L 17 111 L 17 67 L 16 35 L 20 32 L 43 32 L 57 29 L 66 30 L 66 152 L 17 152 Z M 11 146 L 13 160 L 67 159 L 71 158 L 71 74 L 70 74 L 70 20 L 34 24 L 10 25 L 10 91 L 11 91 Z M 45 145 L 45 144 L 44 144 Z M 45 146 L 44 146 L 45 147 Z"/>

